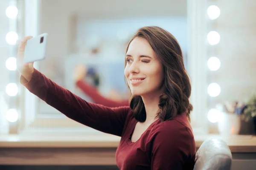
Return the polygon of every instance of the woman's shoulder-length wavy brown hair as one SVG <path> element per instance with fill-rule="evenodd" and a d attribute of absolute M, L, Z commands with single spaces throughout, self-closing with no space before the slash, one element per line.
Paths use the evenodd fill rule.
<path fill-rule="evenodd" d="M 138 29 L 134 37 L 128 42 L 126 53 L 131 41 L 136 37 L 142 37 L 148 41 L 164 68 L 163 85 L 165 86 L 165 92 L 159 97 L 157 117 L 166 121 L 173 119 L 176 115 L 186 113 L 190 121 L 190 112 L 193 109 L 189 102 L 191 84 L 184 66 L 182 51 L 176 38 L 163 28 L 146 26 Z M 125 81 L 127 83 L 126 79 Z M 131 96 L 130 107 L 135 119 L 145 122 L 146 111 L 141 96 Z"/>

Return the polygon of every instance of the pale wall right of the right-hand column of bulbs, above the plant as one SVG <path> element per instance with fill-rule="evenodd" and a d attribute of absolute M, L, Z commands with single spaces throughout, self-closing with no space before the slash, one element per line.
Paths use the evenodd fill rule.
<path fill-rule="evenodd" d="M 256 90 L 256 1 L 218 0 L 217 5 L 221 15 L 212 26 L 221 40 L 213 54 L 221 68 L 209 74 L 209 82 L 221 86 L 215 102 L 243 101 Z"/>

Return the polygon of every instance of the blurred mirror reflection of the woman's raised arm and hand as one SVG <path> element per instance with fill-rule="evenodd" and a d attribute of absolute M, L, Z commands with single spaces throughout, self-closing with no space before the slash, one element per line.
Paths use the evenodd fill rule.
<path fill-rule="evenodd" d="M 119 106 L 128 106 L 128 99 L 119 99 L 119 97 L 107 98 L 102 96 L 97 88 L 92 85 L 89 85 L 84 81 L 84 77 L 87 74 L 87 68 L 85 65 L 77 65 L 75 68 L 74 78 L 76 82 L 76 87 L 79 88 L 85 95 L 89 96 L 94 103 L 108 106 L 108 107 L 119 107 Z M 116 93 L 113 91 L 112 96 L 116 96 Z"/>

